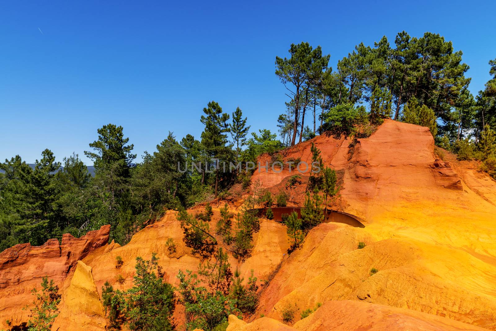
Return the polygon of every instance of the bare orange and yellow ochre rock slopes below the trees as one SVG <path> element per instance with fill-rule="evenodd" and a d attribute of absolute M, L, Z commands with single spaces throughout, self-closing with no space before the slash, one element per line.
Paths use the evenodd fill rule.
<path fill-rule="evenodd" d="M 261 220 L 252 256 L 230 263 L 241 268 L 245 280 L 253 269 L 270 282 L 251 323 L 230 317 L 228 330 L 496 330 L 496 181 L 478 172 L 475 163 L 458 162 L 448 152 L 435 155 L 429 129 L 417 125 L 385 120 L 355 145 L 322 135 L 280 154 L 285 161 L 310 163 L 311 142 L 324 164 L 338 172 L 341 189 L 329 207 L 361 217 L 366 227 L 320 224 L 288 255 L 285 226 Z M 268 155 L 259 161 L 272 162 Z M 285 191 L 290 206 L 301 206 L 309 173 L 288 187 L 293 174 L 269 167 L 255 172 L 252 184 L 260 180 L 274 194 Z M 232 212 L 241 202 L 230 206 Z M 214 220 L 223 204 L 213 202 Z M 170 238 L 174 253 L 165 244 Z M 173 284 L 179 270 L 196 271 L 200 262 L 184 245 L 172 211 L 125 246 L 107 242 L 108 227 L 79 239 L 66 235 L 61 245 L 50 240 L 1 253 L 0 323 L 25 322 L 20 308 L 32 301 L 30 289 L 49 276 L 63 300 L 54 330 L 76 330 L 78 323 L 104 330 L 101 287 L 108 280 L 114 288 L 129 288 L 137 256 L 148 259 L 156 252 Z M 366 246 L 358 249 L 359 242 Z M 117 256 L 124 261 L 120 267 Z M 318 303 L 320 308 L 300 320 L 302 311 Z M 292 326 L 280 322 L 287 304 L 299 309 Z M 266 317 L 257 318 L 261 314 Z M 179 326 L 183 315 L 178 306 Z"/>

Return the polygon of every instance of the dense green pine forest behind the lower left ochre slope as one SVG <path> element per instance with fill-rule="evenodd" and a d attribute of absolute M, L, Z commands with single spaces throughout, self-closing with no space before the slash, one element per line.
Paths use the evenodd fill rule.
<path fill-rule="evenodd" d="M 110 240 L 125 244 L 168 209 L 215 196 L 235 184 L 237 176 L 249 183 L 249 174 L 230 169 L 230 162 L 244 165 L 281 148 L 268 130 L 253 133 L 247 142 L 249 126 L 239 108 L 232 123 L 216 102 L 203 112 L 201 141 L 188 134 L 178 142 L 169 132 L 155 152 L 144 152 L 139 164 L 132 163 L 136 155 L 123 127 L 104 125 L 85 152 L 94 162 L 94 176 L 77 154 L 61 164 L 47 149 L 34 168 L 19 156 L 5 160 L 0 164 L 0 250 L 24 242 L 41 245 L 63 233 L 81 236 L 105 224 L 111 224 Z M 235 149 L 227 140 L 229 132 Z M 248 152 L 242 151 L 247 144 Z"/>

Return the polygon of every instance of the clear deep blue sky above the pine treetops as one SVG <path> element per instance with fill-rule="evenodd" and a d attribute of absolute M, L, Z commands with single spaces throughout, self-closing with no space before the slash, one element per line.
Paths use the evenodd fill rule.
<path fill-rule="evenodd" d="M 476 94 L 496 57 L 495 11 L 495 1 L 2 1 L 0 159 L 33 163 L 50 148 L 91 164 L 83 151 L 112 122 L 139 161 L 169 130 L 199 138 L 211 100 L 275 130 L 287 100 L 275 56 L 301 41 L 335 68 L 362 41 L 439 33 L 463 51 Z"/>

